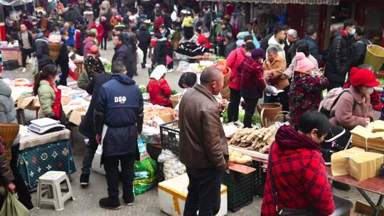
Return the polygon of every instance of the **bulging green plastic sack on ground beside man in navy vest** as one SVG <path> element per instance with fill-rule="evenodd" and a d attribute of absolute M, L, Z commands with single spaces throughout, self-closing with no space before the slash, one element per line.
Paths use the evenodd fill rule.
<path fill-rule="evenodd" d="M 137 143 L 140 161 L 134 162 L 134 194 L 139 195 L 151 189 L 156 183 L 156 161 L 146 151 L 142 139 Z"/>

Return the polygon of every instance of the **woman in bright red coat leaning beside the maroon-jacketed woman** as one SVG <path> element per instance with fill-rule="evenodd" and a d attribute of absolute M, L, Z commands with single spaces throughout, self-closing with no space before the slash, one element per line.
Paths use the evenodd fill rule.
<path fill-rule="evenodd" d="M 245 58 L 250 58 L 252 50 L 255 49 L 253 42 L 247 42 L 240 48 L 230 52 L 227 58 L 227 67 L 230 68 L 230 80 L 228 87 L 230 88 L 230 104 L 228 105 L 228 122 L 238 121 L 239 105 L 240 105 L 240 87 L 241 77 L 238 73 L 239 65 L 244 62 Z"/>

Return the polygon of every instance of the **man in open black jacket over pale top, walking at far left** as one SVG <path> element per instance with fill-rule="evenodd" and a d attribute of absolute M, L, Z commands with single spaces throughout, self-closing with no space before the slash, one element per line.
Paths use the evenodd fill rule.
<path fill-rule="evenodd" d="M 26 58 L 33 53 L 33 38 L 31 33 L 28 32 L 26 25 L 20 25 L 20 32 L 18 33 L 18 46 L 21 50 L 21 60 L 23 63 L 23 72 L 26 72 Z"/>

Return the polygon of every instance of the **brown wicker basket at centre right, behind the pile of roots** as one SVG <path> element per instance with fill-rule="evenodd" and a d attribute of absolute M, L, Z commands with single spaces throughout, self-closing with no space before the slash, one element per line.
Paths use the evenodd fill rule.
<path fill-rule="evenodd" d="M 272 125 L 276 119 L 276 116 L 282 112 L 282 104 L 259 104 L 257 105 L 257 112 L 260 113 L 262 126 L 267 127 Z"/>

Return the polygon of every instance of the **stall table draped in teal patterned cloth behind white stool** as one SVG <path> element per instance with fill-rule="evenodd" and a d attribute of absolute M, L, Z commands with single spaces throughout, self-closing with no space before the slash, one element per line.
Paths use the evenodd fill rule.
<path fill-rule="evenodd" d="M 70 131 L 63 129 L 48 134 L 36 134 L 21 126 L 18 171 L 28 188 L 35 188 L 38 178 L 47 171 L 76 171 L 70 146 Z"/>

